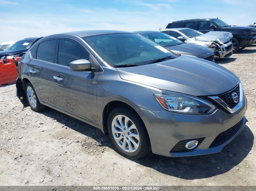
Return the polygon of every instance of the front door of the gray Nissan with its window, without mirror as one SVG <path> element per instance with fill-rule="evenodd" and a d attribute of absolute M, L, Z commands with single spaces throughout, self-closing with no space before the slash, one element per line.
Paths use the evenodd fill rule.
<path fill-rule="evenodd" d="M 53 68 L 53 101 L 58 108 L 88 121 L 95 121 L 97 112 L 98 72 L 75 72 L 69 63 L 87 59 L 92 65 L 96 61 L 77 41 L 59 38 L 56 64 Z M 98 65 L 98 64 L 97 64 Z"/>

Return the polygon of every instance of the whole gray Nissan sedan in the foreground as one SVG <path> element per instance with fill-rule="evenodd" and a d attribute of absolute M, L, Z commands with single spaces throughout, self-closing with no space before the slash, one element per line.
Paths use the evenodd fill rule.
<path fill-rule="evenodd" d="M 17 96 L 98 127 L 137 159 L 221 151 L 243 129 L 238 77 L 135 33 L 80 31 L 35 43 L 18 62 Z"/>

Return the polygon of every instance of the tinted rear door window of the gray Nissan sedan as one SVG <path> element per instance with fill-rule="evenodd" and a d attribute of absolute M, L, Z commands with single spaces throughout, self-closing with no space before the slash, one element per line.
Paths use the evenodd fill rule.
<path fill-rule="evenodd" d="M 46 61 L 46 62 L 55 62 L 55 52 L 56 52 L 57 40 L 47 40 L 39 44 L 36 59 Z"/>

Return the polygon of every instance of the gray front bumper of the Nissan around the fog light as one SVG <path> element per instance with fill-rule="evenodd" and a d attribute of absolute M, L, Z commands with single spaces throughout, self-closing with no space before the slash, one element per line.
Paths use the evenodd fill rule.
<path fill-rule="evenodd" d="M 185 115 L 166 110 L 142 111 L 142 120 L 148 130 L 152 152 L 167 157 L 184 157 L 220 152 L 236 135 L 241 132 L 247 119 L 244 114 L 247 103 L 234 114 L 217 109 L 210 115 Z M 221 144 L 210 147 L 214 139 L 232 126 L 238 124 L 235 132 Z M 203 138 L 194 149 L 183 152 L 171 152 L 181 140 Z"/>

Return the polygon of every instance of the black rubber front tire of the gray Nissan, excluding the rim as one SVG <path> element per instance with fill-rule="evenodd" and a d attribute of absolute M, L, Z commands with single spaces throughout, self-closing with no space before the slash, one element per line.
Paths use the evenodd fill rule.
<path fill-rule="evenodd" d="M 128 153 L 128 152 L 124 151 L 123 149 L 121 149 L 119 147 L 119 145 L 115 142 L 115 139 L 112 134 L 111 126 L 112 126 L 112 121 L 113 121 L 114 117 L 117 115 L 125 115 L 125 116 L 129 117 L 131 119 L 131 121 L 135 124 L 135 126 L 138 130 L 138 134 L 140 137 L 140 144 L 138 146 L 138 149 L 135 152 Z M 109 117 L 108 117 L 108 134 L 109 134 L 109 137 L 110 137 L 113 145 L 117 149 L 117 152 L 119 154 L 125 156 L 126 158 L 130 158 L 130 159 L 141 158 L 145 154 L 148 153 L 148 150 L 149 150 L 148 147 L 151 148 L 149 138 L 148 138 L 148 133 L 147 133 L 144 123 L 142 122 L 140 117 L 138 117 L 137 115 L 134 114 L 134 111 L 132 111 L 131 109 L 126 108 L 126 107 L 118 107 L 118 108 L 114 109 L 113 111 L 111 111 L 111 113 L 109 114 Z"/>

